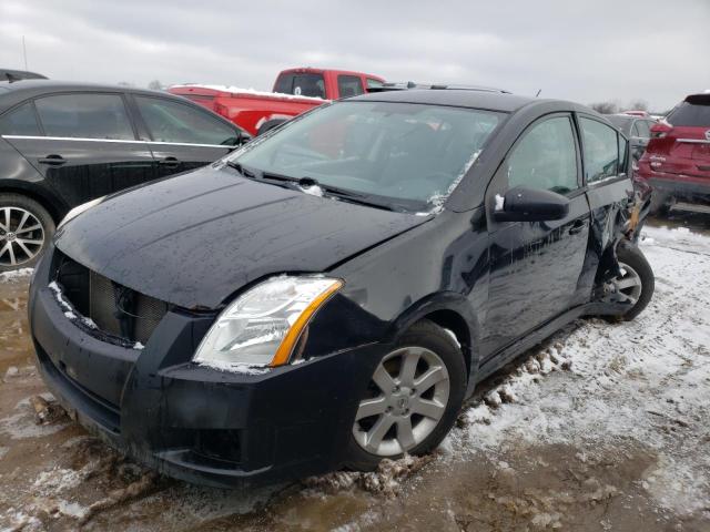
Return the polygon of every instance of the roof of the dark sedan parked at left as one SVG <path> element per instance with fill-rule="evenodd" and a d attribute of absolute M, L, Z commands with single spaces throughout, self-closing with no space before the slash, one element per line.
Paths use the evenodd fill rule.
<path fill-rule="evenodd" d="M 131 92 L 133 94 L 178 98 L 169 92 L 150 91 L 125 85 L 104 85 L 99 83 L 80 83 L 75 81 L 55 80 L 19 80 L 12 83 L 0 81 L 0 113 L 30 98 L 42 96 L 55 92 Z"/>

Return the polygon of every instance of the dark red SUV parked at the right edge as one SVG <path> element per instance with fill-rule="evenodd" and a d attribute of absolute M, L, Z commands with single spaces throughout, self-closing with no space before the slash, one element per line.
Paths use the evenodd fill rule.
<path fill-rule="evenodd" d="M 637 175 L 655 188 L 652 211 L 710 204 L 710 93 L 689 95 L 651 127 Z"/>

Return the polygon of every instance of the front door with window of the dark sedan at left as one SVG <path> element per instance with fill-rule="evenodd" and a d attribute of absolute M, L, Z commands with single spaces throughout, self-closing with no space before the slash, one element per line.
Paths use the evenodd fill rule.
<path fill-rule="evenodd" d="M 138 94 L 133 101 L 160 177 L 210 164 L 240 142 L 236 126 L 195 105 Z"/>

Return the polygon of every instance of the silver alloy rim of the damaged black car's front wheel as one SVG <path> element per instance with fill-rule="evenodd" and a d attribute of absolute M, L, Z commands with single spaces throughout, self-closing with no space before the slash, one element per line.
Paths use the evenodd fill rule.
<path fill-rule="evenodd" d="M 410 451 L 446 411 L 450 382 L 442 358 L 423 347 L 403 347 L 379 362 L 355 416 L 353 436 L 367 452 L 394 457 Z"/>

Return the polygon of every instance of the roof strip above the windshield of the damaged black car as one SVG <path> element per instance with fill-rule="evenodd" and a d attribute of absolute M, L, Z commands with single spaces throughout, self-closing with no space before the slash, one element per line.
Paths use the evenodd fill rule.
<path fill-rule="evenodd" d="M 486 109 L 510 113 L 532 102 L 544 102 L 528 96 L 460 89 L 412 89 L 406 91 L 387 91 L 362 94 L 348 98 L 352 101 L 422 103 L 430 105 L 449 105 L 457 108 Z"/>

